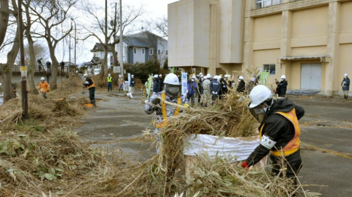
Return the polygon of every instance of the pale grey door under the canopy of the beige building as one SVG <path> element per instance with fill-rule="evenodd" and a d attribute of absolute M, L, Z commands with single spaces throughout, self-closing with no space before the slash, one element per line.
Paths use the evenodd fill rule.
<path fill-rule="evenodd" d="M 301 64 L 301 89 L 320 90 L 321 64 Z"/>

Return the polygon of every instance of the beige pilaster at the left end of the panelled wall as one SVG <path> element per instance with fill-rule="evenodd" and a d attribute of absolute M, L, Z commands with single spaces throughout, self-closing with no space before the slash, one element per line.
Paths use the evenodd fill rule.
<path fill-rule="evenodd" d="M 243 67 L 253 66 L 253 38 L 254 38 L 254 19 L 247 17 L 244 20 L 244 53 L 243 53 Z M 260 67 L 261 68 L 261 67 Z M 243 69 L 242 69 L 243 70 Z"/>

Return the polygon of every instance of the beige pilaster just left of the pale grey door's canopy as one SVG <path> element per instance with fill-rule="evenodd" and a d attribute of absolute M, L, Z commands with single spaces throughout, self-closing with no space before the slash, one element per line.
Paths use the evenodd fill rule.
<path fill-rule="evenodd" d="M 292 56 L 291 48 L 291 38 L 292 38 L 292 11 L 283 11 L 282 12 L 282 26 L 281 26 L 281 46 L 280 46 L 280 55 L 281 57 L 290 57 Z M 285 61 L 280 63 L 277 66 L 280 66 L 280 72 L 277 73 L 281 75 L 286 75 L 286 80 L 290 81 L 291 79 L 291 61 Z M 277 69 L 279 70 L 279 69 Z M 291 83 L 289 83 L 288 89 L 291 89 Z"/>

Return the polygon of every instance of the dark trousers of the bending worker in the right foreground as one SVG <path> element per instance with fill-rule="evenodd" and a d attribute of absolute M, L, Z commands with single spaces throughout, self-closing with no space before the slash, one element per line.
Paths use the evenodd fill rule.
<path fill-rule="evenodd" d="M 296 175 L 298 174 L 299 170 L 302 167 L 302 159 L 300 155 L 300 150 L 298 150 L 295 153 L 290 154 L 289 156 L 285 157 L 284 163 L 281 164 L 281 157 L 276 157 L 273 155 L 270 155 L 270 159 L 272 160 L 272 173 L 273 174 L 279 174 L 280 169 L 282 167 L 286 167 L 286 177 L 291 178 L 294 181 L 294 184 L 297 185 L 297 178 Z M 283 166 L 282 166 L 283 165 Z M 280 173 L 280 176 L 283 176 L 283 172 Z"/>

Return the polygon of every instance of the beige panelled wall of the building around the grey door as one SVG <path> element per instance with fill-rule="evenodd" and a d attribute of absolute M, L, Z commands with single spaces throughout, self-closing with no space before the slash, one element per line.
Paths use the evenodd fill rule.
<path fill-rule="evenodd" d="M 352 73 L 352 1 L 285 0 L 262 9 L 253 2 L 246 0 L 244 65 L 276 63 L 269 82 L 285 74 L 288 88 L 300 89 L 301 64 L 320 63 L 322 93 L 341 94 L 343 74 Z"/>

